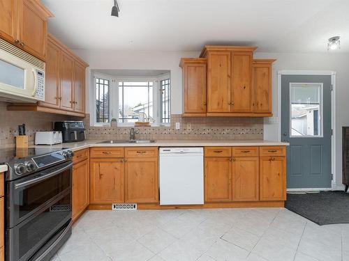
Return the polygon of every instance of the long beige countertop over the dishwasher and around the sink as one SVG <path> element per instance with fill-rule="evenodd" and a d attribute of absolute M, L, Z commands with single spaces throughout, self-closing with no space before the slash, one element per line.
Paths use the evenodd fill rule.
<path fill-rule="evenodd" d="M 91 147 L 198 147 L 198 146 L 285 146 L 289 143 L 262 140 L 244 141 L 191 141 L 191 140 L 158 140 L 156 143 L 101 143 L 101 141 L 80 141 L 52 145 L 53 148 L 70 148 L 82 150 Z M 47 145 L 33 145 L 32 148 L 47 148 Z"/>

